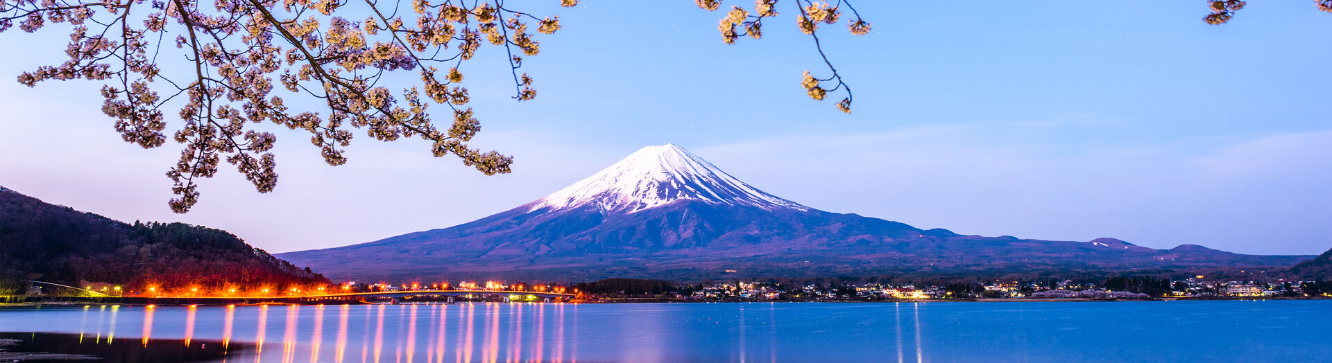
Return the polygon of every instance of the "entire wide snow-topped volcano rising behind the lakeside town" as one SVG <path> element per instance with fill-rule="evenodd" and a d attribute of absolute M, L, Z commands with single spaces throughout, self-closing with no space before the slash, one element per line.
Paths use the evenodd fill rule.
<path fill-rule="evenodd" d="M 922 230 L 779 198 L 670 144 L 473 222 L 278 257 L 334 281 L 385 282 L 1212 271 L 1312 258 Z"/>

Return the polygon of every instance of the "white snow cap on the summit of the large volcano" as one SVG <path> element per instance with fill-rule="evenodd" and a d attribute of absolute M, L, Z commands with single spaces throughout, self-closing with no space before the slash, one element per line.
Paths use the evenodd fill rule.
<path fill-rule="evenodd" d="M 531 202 L 531 210 L 595 206 L 634 213 L 677 199 L 755 206 L 767 210 L 807 207 L 763 193 L 673 144 L 634 152 L 586 180 Z"/>

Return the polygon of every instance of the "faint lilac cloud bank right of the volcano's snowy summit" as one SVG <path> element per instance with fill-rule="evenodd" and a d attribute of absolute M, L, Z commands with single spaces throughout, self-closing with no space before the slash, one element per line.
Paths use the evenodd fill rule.
<path fill-rule="evenodd" d="M 1263 254 L 1329 247 L 1332 130 L 1132 146 L 1023 137 L 1046 126 L 783 136 L 697 153 L 797 202 L 922 227 Z"/>

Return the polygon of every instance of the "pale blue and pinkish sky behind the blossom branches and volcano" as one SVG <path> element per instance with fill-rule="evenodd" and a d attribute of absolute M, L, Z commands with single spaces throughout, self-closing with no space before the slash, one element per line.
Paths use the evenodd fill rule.
<path fill-rule="evenodd" d="M 783 198 L 918 227 L 1332 247 L 1332 13 L 1312 1 L 1255 1 L 1220 27 L 1200 20 L 1203 1 L 862 3 L 870 35 L 823 36 L 855 89 L 852 114 L 799 88 L 821 62 L 790 9 L 763 40 L 726 45 L 722 13 L 691 1 L 585 0 L 537 11 L 563 25 L 525 62 L 537 100 L 509 98 L 498 49 L 465 65 L 477 144 L 515 156 L 513 174 L 362 133 L 334 168 L 308 136 L 265 125 L 278 136 L 277 189 L 254 193 L 224 168 L 177 215 L 163 173 L 178 149 L 121 142 L 100 84 L 0 81 L 0 185 L 292 251 L 468 222 L 674 142 Z M 0 80 L 60 61 L 67 37 L 47 31 L 0 35 L 25 49 L 0 59 Z"/>

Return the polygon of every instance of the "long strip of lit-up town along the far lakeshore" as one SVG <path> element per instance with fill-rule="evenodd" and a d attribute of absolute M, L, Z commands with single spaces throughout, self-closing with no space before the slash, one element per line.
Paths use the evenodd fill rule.
<path fill-rule="evenodd" d="M 123 291 L 120 286 L 89 285 L 88 289 L 29 286 L 27 294 L 5 297 L 8 303 L 108 302 L 108 303 L 341 303 L 410 302 L 884 302 L 884 301 L 1146 301 L 1146 299 L 1324 299 L 1332 298 L 1332 282 L 1323 281 L 1209 281 L 1203 275 L 1171 281 L 1152 277 L 1112 277 L 1086 281 L 992 281 L 940 285 L 882 282 L 731 281 L 677 283 L 659 279 L 611 278 L 574 285 L 523 282 L 450 283 L 358 283 L 265 289 L 265 294 L 236 291 L 157 293 Z M 109 294 L 101 294 L 104 291 Z M 125 294 L 128 293 L 128 294 Z M 202 299 L 202 301 L 201 301 Z M 214 302 L 216 299 L 216 302 Z"/>

